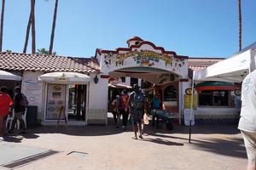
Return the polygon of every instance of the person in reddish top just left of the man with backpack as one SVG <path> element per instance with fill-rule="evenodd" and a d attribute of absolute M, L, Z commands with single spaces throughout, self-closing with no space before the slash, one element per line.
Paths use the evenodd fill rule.
<path fill-rule="evenodd" d="M 128 99 L 129 99 L 129 96 L 126 93 L 126 90 L 123 90 L 122 94 L 119 98 L 119 114 L 122 115 L 122 118 L 123 118 L 122 121 L 123 121 L 123 129 L 124 130 L 126 129 L 127 122 L 128 122 L 128 116 L 129 116 L 128 111 L 125 110 Z"/>

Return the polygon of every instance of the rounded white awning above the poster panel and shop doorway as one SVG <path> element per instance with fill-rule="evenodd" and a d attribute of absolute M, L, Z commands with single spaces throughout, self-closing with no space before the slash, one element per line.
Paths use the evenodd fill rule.
<path fill-rule="evenodd" d="M 61 84 L 85 84 L 90 82 L 91 78 L 78 72 L 50 72 L 39 76 L 38 80 Z"/>

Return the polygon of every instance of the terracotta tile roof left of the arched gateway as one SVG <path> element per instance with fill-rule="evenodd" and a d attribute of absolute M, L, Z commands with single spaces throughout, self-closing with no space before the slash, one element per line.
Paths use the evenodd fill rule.
<path fill-rule="evenodd" d="M 100 72 L 96 58 L 74 58 L 49 54 L 0 53 L 0 69 L 9 71 Z"/>

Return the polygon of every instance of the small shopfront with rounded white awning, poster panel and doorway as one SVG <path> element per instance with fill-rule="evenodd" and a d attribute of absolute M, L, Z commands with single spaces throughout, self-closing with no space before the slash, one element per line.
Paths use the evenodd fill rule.
<path fill-rule="evenodd" d="M 38 77 L 44 82 L 44 122 L 80 121 L 85 125 L 91 78 L 78 72 L 50 72 Z"/>

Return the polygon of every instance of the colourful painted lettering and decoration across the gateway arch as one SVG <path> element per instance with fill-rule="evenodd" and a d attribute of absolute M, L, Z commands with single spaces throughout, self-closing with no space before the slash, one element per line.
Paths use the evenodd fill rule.
<path fill-rule="evenodd" d="M 125 54 L 107 54 L 105 56 L 104 62 L 105 65 L 112 65 L 112 66 L 122 66 L 125 65 L 125 59 L 132 58 L 136 62 L 138 66 L 153 66 L 155 63 L 159 63 L 160 60 L 163 60 L 166 64 L 166 66 L 175 66 L 175 67 L 181 67 L 184 65 L 184 62 L 182 62 L 179 65 L 173 65 L 174 56 L 173 54 L 167 55 L 167 54 L 158 54 L 153 51 L 131 51 L 129 53 Z"/>

